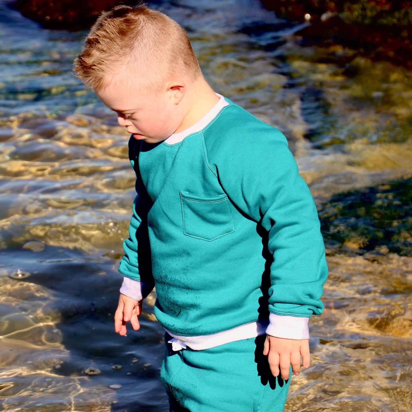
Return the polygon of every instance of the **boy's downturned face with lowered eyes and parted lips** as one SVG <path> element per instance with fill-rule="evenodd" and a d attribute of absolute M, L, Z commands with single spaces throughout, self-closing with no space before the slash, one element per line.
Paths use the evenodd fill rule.
<path fill-rule="evenodd" d="M 173 99 L 173 89 L 164 87 L 150 92 L 139 87 L 137 82 L 133 82 L 133 86 L 114 83 L 95 92 L 108 108 L 117 113 L 120 126 L 126 127 L 135 139 L 157 143 L 178 129 L 182 118 Z"/>

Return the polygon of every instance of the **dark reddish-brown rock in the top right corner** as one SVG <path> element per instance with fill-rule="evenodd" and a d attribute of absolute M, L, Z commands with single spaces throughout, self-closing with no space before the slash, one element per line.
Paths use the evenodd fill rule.
<path fill-rule="evenodd" d="M 296 34 L 302 45 L 342 44 L 372 60 L 412 69 L 411 2 L 389 0 L 261 0 L 281 18 L 311 24 Z"/>

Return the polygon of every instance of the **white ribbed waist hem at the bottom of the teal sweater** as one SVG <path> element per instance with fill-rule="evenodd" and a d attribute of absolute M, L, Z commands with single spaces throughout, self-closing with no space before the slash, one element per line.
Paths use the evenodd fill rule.
<path fill-rule="evenodd" d="M 212 333 L 211 335 L 201 336 L 179 336 L 169 332 L 169 330 L 167 329 L 165 330 L 167 333 L 169 333 L 171 337 L 177 339 L 178 342 L 174 342 L 179 343 L 181 349 L 184 348 L 184 346 L 182 345 L 183 343 L 185 346 L 189 346 L 190 349 L 193 349 L 195 351 L 201 351 L 203 349 L 214 348 L 215 346 L 220 346 L 225 343 L 234 342 L 236 340 L 249 339 L 251 337 L 265 335 L 268 323 L 269 320 L 264 319 L 256 322 L 245 323 L 244 325 L 237 326 L 236 328 L 224 330 L 222 332 Z M 175 345 L 175 347 L 178 346 Z"/>

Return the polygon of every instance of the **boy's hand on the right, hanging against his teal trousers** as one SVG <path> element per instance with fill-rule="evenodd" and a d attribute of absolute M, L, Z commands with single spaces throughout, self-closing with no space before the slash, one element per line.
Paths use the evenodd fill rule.
<path fill-rule="evenodd" d="M 266 335 L 263 354 L 268 355 L 272 375 L 278 376 L 279 369 L 283 380 L 289 379 L 290 365 L 292 365 L 293 375 L 299 375 L 300 355 L 303 358 L 303 366 L 309 368 L 310 351 L 309 339 L 283 339 Z"/>

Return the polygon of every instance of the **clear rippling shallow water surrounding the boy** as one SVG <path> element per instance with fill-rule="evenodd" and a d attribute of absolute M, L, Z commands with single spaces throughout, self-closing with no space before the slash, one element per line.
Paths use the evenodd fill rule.
<path fill-rule="evenodd" d="M 216 91 L 286 134 L 325 222 L 350 229 L 340 243 L 325 232 L 325 311 L 311 319 L 312 366 L 293 377 L 286 410 L 411 410 L 412 258 L 392 253 L 410 250 L 410 221 L 403 248 L 364 250 L 356 215 L 336 212 L 342 193 L 412 175 L 411 73 L 301 47 L 302 25 L 257 1 L 201 4 L 157 7 L 189 30 Z M 155 295 L 139 332 L 113 331 L 134 173 L 129 136 L 70 73 L 85 34 L 44 30 L 0 4 L 0 404 L 166 411 Z"/>

